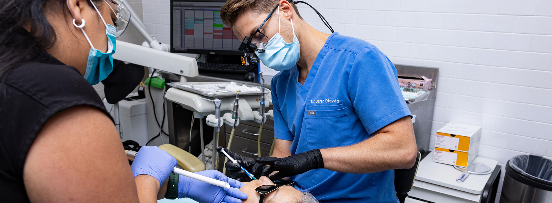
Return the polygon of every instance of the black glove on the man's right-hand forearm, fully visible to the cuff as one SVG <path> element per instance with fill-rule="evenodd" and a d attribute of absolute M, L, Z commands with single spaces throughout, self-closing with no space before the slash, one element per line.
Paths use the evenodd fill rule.
<path fill-rule="evenodd" d="M 285 158 L 275 157 L 259 157 L 257 163 L 267 164 L 269 167 L 263 170 L 263 173 L 269 175 L 277 171 L 277 174 L 272 175 L 270 180 L 283 179 L 305 173 L 312 169 L 324 168 L 322 153 L 320 149 L 312 149 L 311 151 L 298 153 Z"/>

